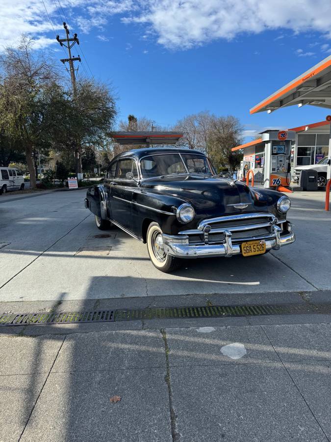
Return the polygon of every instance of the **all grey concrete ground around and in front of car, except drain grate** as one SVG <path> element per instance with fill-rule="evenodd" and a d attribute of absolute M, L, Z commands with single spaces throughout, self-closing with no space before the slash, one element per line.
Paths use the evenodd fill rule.
<path fill-rule="evenodd" d="M 84 194 L 0 196 L 0 313 L 308 310 L 0 325 L 0 442 L 330 442 L 331 321 L 314 313 L 331 302 L 324 193 L 291 195 L 293 245 L 190 260 L 171 275 L 124 232 L 98 230 Z"/>

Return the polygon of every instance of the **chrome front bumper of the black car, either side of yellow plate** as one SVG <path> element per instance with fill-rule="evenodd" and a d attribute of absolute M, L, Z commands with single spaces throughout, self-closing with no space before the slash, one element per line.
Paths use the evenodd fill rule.
<path fill-rule="evenodd" d="M 231 257 L 241 254 L 240 244 L 232 244 L 231 234 L 226 235 L 223 244 L 204 244 L 191 245 L 188 244 L 188 236 L 184 235 L 165 235 L 163 234 L 163 244 L 166 253 L 178 258 L 207 258 L 216 256 Z M 254 238 L 252 238 L 254 240 Z M 266 250 L 278 250 L 282 246 L 287 246 L 295 241 L 295 234 L 288 232 L 280 234 L 277 231 L 274 238 L 266 239 Z"/>

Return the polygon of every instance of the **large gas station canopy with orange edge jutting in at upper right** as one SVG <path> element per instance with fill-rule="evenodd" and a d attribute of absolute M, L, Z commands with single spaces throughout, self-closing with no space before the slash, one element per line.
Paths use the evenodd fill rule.
<path fill-rule="evenodd" d="M 270 113 L 293 105 L 331 108 L 331 55 L 262 100 L 250 113 Z"/>

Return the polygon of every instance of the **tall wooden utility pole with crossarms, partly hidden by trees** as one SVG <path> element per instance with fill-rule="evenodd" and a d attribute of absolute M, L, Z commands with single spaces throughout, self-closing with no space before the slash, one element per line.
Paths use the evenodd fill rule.
<path fill-rule="evenodd" d="M 72 38 L 69 37 L 69 29 L 68 26 L 66 24 L 66 22 L 63 22 L 63 28 L 66 31 L 66 38 L 60 38 L 59 35 L 56 35 L 56 40 L 60 43 L 60 46 L 64 46 L 65 48 L 68 49 L 68 55 L 69 58 L 62 58 L 60 59 L 60 61 L 62 61 L 63 64 L 65 63 L 69 63 L 69 67 L 70 67 L 70 76 L 71 76 L 71 84 L 73 86 L 73 93 L 74 93 L 74 99 L 76 98 L 76 72 L 78 72 L 78 67 L 77 69 L 75 69 L 74 67 L 74 61 L 79 61 L 81 62 L 80 56 L 78 55 L 77 57 L 72 57 L 71 56 L 71 48 L 77 43 L 77 45 L 79 45 L 79 40 L 77 38 L 77 34 L 74 34 L 74 36 Z M 77 178 L 79 179 L 79 174 L 80 175 L 80 179 L 82 179 L 82 166 L 81 166 L 81 147 L 80 147 L 80 142 L 78 140 L 76 140 L 76 146 L 75 146 L 75 160 L 76 160 L 76 172 L 77 172 Z"/>

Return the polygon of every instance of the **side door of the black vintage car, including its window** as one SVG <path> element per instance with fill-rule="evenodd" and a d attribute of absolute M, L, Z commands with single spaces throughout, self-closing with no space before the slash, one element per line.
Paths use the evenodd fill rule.
<path fill-rule="evenodd" d="M 127 173 L 132 172 L 138 179 L 138 169 L 134 158 L 123 158 L 118 161 L 115 178 L 110 180 L 111 218 L 121 226 L 132 231 L 132 194 L 138 184 Z"/>

